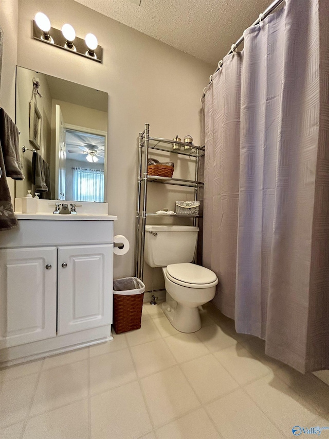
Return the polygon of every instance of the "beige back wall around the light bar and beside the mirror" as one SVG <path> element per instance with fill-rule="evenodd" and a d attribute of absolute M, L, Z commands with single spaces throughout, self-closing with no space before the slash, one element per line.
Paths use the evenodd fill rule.
<path fill-rule="evenodd" d="M 95 33 L 103 47 L 103 64 L 33 40 L 31 20 L 37 11 L 46 13 L 54 27 L 70 23 L 78 37 Z M 213 66 L 72 0 L 21 0 L 19 28 L 19 65 L 95 87 L 109 95 L 109 213 L 118 216 L 115 233 L 125 235 L 132 249 L 115 258 L 114 276 L 132 275 L 138 132 L 148 122 L 154 136 L 191 134 L 197 144 L 199 99 Z"/>

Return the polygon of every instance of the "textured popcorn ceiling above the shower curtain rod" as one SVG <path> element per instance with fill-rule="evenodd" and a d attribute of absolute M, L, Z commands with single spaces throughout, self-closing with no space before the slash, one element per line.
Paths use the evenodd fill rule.
<path fill-rule="evenodd" d="M 95 11 L 217 64 L 271 0 L 76 0 Z M 137 2 L 138 3 L 138 2 Z"/>

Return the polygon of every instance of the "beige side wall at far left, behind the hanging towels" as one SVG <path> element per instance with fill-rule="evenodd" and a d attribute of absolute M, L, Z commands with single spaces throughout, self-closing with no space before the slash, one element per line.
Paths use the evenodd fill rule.
<path fill-rule="evenodd" d="M 15 120 L 15 69 L 17 64 L 18 0 L 0 1 L 0 26 L 4 31 L 4 49 L 0 87 L 0 106 Z M 14 180 L 8 179 L 12 198 Z"/>

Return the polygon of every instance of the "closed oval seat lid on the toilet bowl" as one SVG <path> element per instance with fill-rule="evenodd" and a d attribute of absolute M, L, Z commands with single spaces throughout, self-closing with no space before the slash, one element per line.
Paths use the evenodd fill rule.
<path fill-rule="evenodd" d="M 217 276 L 213 271 L 189 262 L 168 265 L 167 273 L 177 280 L 196 285 L 212 284 L 217 280 Z"/>

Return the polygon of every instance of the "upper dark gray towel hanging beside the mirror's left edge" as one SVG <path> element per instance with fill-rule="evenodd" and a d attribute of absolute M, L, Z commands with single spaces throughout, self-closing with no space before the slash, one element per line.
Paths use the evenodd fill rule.
<path fill-rule="evenodd" d="M 0 108 L 0 143 L 7 177 L 24 180 L 19 152 L 19 130 L 3 108 Z"/>

